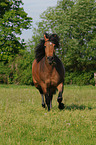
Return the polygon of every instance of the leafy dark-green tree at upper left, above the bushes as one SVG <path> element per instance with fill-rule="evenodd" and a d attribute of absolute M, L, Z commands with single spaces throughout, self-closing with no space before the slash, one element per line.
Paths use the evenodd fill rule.
<path fill-rule="evenodd" d="M 17 35 L 31 28 L 32 18 L 21 7 L 22 0 L 0 1 L 0 60 L 9 61 L 25 48 L 24 40 Z"/>

